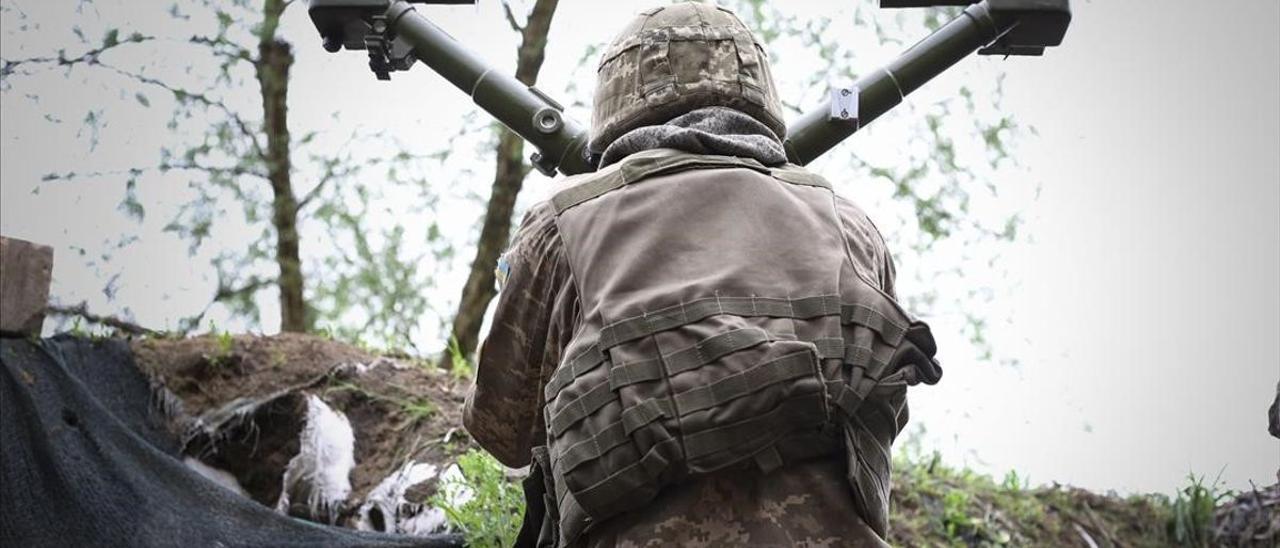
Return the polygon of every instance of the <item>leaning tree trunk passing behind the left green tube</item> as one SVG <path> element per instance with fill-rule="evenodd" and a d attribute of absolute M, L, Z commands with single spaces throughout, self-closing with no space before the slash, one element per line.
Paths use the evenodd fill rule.
<path fill-rule="evenodd" d="M 547 33 L 550 31 L 557 4 L 558 0 L 538 0 L 529 13 L 529 20 L 524 28 L 516 27 L 515 19 L 512 19 L 512 26 L 521 33 L 516 78 L 527 86 L 534 86 L 538 82 L 538 72 L 543 68 Z M 462 288 L 462 300 L 458 302 L 458 312 L 453 319 L 452 335 L 465 356 L 475 352 L 480 338 L 480 324 L 484 323 L 484 312 L 489 307 L 489 301 L 497 294 L 494 266 L 511 237 L 516 197 L 525 183 L 525 175 L 529 174 L 524 155 L 525 141 L 509 129 L 502 128 L 502 134 L 498 137 L 497 173 L 493 179 L 489 206 L 480 229 L 476 256 L 471 261 L 471 274 Z"/>

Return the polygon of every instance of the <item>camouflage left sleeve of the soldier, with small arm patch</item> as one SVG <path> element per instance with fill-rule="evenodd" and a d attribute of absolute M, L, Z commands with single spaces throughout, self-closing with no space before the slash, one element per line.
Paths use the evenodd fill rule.
<path fill-rule="evenodd" d="M 525 215 L 498 265 L 503 280 L 462 421 L 502 463 L 518 467 L 543 425 L 543 385 L 572 333 L 577 294 L 552 209 Z"/>

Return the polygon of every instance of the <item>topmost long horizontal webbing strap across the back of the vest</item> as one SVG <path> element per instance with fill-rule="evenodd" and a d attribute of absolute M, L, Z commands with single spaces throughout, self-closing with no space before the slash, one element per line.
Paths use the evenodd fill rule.
<path fill-rule="evenodd" d="M 600 348 L 612 348 L 719 314 L 808 320 L 841 314 L 841 306 L 836 294 L 803 298 L 705 297 L 605 325 L 600 329 Z"/>

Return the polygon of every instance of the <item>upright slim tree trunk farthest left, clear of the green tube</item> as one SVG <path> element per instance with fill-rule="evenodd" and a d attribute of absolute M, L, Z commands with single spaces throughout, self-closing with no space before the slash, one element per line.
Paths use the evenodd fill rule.
<path fill-rule="evenodd" d="M 266 0 L 255 68 L 262 90 L 262 131 L 266 133 L 266 150 L 262 155 L 268 179 L 271 182 L 275 262 L 280 266 L 280 330 L 297 333 L 306 330 L 307 321 L 298 252 L 298 201 L 293 196 L 293 182 L 289 178 L 292 163 L 287 101 L 293 51 L 288 42 L 275 37 L 285 6 L 283 0 Z"/>

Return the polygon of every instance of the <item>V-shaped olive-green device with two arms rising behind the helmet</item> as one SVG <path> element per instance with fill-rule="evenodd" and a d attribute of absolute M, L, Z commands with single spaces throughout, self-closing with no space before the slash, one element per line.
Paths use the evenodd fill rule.
<path fill-rule="evenodd" d="M 419 14 L 415 4 L 474 4 L 475 0 L 307 0 L 307 13 L 329 51 L 367 50 L 379 79 L 422 61 L 538 147 L 538 172 L 594 172 L 599 155 L 588 132 L 538 88 L 488 63 Z M 1042 55 L 1062 42 L 1070 0 L 881 0 L 882 8 L 966 6 L 884 67 L 851 85 L 835 86 L 823 105 L 787 123 L 787 159 L 808 164 L 872 123 L 960 60 L 973 55 Z"/>

